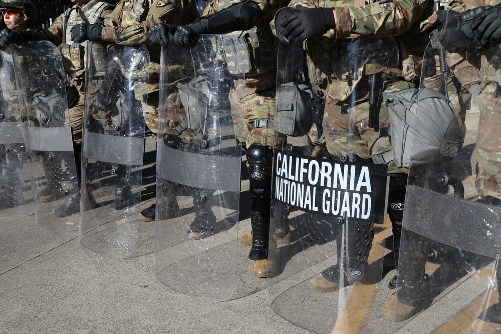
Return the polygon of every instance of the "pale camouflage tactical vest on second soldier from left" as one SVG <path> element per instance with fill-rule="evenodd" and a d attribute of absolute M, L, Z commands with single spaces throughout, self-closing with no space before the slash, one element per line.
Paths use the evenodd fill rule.
<path fill-rule="evenodd" d="M 96 23 L 104 10 L 111 8 L 109 3 L 100 2 L 99 0 L 91 0 L 84 7 L 78 5 L 72 6 L 64 13 L 63 21 L 63 43 L 61 45 L 61 54 L 63 57 L 63 67 L 65 72 L 71 79 L 82 78 L 85 71 L 85 50 L 88 48 L 89 42 L 81 44 L 72 43 L 71 29 L 84 22 L 91 24 Z M 82 17 L 82 14 L 84 17 Z M 101 50 L 102 49 L 102 50 Z M 95 71 L 106 71 L 106 49 L 94 48 L 96 53 L 93 57 Z"/>

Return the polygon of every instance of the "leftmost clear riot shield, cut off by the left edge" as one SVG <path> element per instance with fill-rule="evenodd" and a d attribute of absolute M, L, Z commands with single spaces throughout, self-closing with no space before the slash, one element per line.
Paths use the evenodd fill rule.
<path fill-rule="evenodd" d="M 11 47 L 0 48 L 0 214 L 35 212 Z"/>

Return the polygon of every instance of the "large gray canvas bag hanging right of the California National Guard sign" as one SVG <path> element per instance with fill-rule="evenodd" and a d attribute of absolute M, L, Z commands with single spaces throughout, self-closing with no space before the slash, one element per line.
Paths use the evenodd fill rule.
<path fill-rule="evenodd" d="M 431 88 L 409 88 L 385 93 L 384 101 L 397 166 L 456 156 L 461 132 L 454 108 L 445 96 Z"/>

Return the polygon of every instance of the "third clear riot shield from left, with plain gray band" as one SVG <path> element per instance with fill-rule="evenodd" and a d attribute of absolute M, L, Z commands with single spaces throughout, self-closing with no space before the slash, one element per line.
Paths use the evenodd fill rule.
<path fill-rule="evenodd" d="M 117 258 L 152 253 L 154 224 L 138 219 L 148 51 L 92 43 L 86 57 L 80 243 Z"/>

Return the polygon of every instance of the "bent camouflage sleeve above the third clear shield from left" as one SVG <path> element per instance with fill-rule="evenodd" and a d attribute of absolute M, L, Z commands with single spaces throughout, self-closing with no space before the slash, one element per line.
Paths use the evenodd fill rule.
<path fill-rule="evenodd" d="M 120 10 L 117 7 L 118 10 Z M 117 11 L 115 9 L 115 11 Z M 179 9 L 175 3 L 170 0 L 155 0 L 149 8 L 146 19 L 122 27 L 119 26 L 113 15 L 105 20 L 105 27 L 101 32 L 103 41 L 113 42 L 122 45 L 141 45 L 148 40 L 148 30 L 154 25 L 166 22 L 170 24 L 179 24 L 184 17 L 182 9 Z"/>

